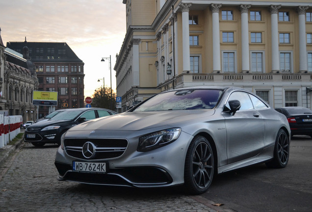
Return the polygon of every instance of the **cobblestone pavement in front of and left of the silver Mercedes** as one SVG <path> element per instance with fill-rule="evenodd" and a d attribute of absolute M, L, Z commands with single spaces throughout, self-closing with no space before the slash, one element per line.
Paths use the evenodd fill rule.
<path fill-rule="evenodd" d="M 136 189 L 56 180 L 55 145 L 24 143 L 0 167 L 0 211 L 216 212 L 201 196 L 179 188 Z M 218 210 L 224 211 L 224 210 Z M 227 210 L 225 210 L 227 211 Z"/>

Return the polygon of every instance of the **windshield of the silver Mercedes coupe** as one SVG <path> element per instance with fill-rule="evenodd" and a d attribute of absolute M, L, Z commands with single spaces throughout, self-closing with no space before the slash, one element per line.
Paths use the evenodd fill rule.
<path fill-rule="evenodd" d="M 211 89 L 169 91 L 152 97 L 133 111 L 211 109 L 221 94 L 222 90 Z"/>

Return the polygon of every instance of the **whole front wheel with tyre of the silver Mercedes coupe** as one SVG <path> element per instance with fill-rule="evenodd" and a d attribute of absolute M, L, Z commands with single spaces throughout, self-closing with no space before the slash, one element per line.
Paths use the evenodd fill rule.
<path fill-rule="evenodd" d="M 210 143 L 203 136 L 195 136 L 185 159 L 184 183 L 192 194 L 208 190 L 213 178 L 214 158 Z"/>

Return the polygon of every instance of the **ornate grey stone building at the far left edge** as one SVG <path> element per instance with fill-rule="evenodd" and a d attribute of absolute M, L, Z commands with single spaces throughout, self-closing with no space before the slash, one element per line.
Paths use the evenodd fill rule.
<path fill-rule="evenodd" d="M 24 122 L 36 119 L 36 107 L 32 105 L 32 92 L 38 88 L 34 64 L 23 54 L 3 45 L 0 35 L 0 110 L 9 115 L 22 115 Z"/>

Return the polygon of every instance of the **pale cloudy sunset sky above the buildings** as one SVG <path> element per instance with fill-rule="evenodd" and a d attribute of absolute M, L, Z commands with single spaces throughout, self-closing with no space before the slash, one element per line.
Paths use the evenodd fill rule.
<path fill-rule="evenodd" d="M 123 0 L 1 0 L 0 28 L 6 42 L 66 42 L 84 62 L 84 96 L 96 88 L 116 90 L 116 53 L 126 35 L 126 5 Z"/>

